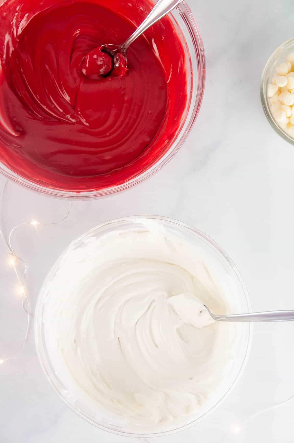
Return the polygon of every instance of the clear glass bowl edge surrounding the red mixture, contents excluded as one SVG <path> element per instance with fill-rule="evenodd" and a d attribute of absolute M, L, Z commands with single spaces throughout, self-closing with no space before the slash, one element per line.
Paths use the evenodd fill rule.
<path fill-rule="evenodd" d="M 20 175 L 15 174 L 4 164 L 0 163 L 0 172 L 8 179 L 22 184 L 23 186 L 39 191 L 43 194 L 51 195 L 58 198 L 73 199 L 93 199 L 99 197 L 106 197 L 116 192 L 128 189 L 129 187 L 140 183 L 142 180 L 150 177 L 156 171 L 165 165 L 174 154 L 181 148 L 186 140 L 189 132 L 198 115 L 205 85 L 205 54 L 201 36 L 199 34 L 197 25 L 193 18 L 190 8 L 182 3 L 173 14 L 170 14 L 170 19 L 174 23 L 178 34 L 181 35 L 182 44 L 186 54 L 186 71 L 187 71 L 187 102 L 186 109 L 183 113 L 183 124 L 179 128 L 178 133 L 175 134 L 174 140 L 170 144 L 170 148 L 154 165 L 149 167 L 146 171 L 137 177 L 114 187 L 108 187 L 95 191 L 71 192 L 58 189 L 51 189 L 39 184 L 33 183 L 27 179 L 23 179 Z"/>

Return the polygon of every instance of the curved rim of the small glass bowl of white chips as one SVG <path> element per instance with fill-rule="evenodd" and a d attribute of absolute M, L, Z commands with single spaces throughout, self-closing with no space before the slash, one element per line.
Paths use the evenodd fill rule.
<path fill-rule="evenodd" d="M 285 43 L 282 43 L 270 56 L 267 60 L 266 65 L 264 66 L 263 73 L 261 76 L 261 84 L 260 84 L 260 98 L 261 103 L 263 105 L 263 111 L 267 116 L 267 120 L 270 122 L 271 127 L 275 129 L 275 131 L 287 142 L 294 144 L 294 138 L 290 137 L 287 132 L 285 132 L 275 121 L 271 114 L 270 106 L 268 105 L 267 99 L 267 83 L 265 82 L 265 77 L 267 72 L 271 70 L 272 64 L 275 62 L 275 59 L 279 57 L 282 51 L 286 50 L 286 48 L 290 45 L 293 45 L 294 48 L 294 37 L 292 39 L 287 40 Z M 294 50 L 294 49 L 293 49 Z"/>

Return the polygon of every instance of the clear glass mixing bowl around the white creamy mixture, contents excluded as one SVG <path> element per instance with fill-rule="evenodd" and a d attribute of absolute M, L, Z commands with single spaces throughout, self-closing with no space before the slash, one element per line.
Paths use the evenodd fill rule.
<path fill-rule="evenodd" d="M 54 350 L 52 351 L 52 348 L 50 347 L 52 346 L 52 343 L 49 344 L 48 340 L 46 340 L 48 334 L 50 337 L 50 320 L 46 326 L 46 319 L 48 319 L 48 315 L 50 317 L 50 299 L 51 297 L 54 298 L 52 292 L 50 293 L 50 297 L 47 296 L 50 284 L 54 281 L 54 276 L 58 270 L 60 261 L 64 260 L 66 255 L 71 251 L 83 248 L 85 241 L 89 241 L 89 239 L 93 237 L 99 238 L 116 230 L 119 230 L 120 232 L 129 232 L 130 230 L 146 231 L 146 227 L 143 224 L 143 221 L 146 220 L 146 218 L 156 220 L 168 233 L 188 241 L 193 247 L 195 247 L 197 253 L 201 254 L 201 258 L 207 260 L 205 263 L 209 263 L 209 271 L 213 272 L 213 280 L 218 282 L 218 286 L 220 285 L 219 287 L 221 288 L 222 293 L 225 294 L 227 298 L 226 302 L 228 302 L 232 313 L 251 311 L 251 305 L 245 284 L 232 260 L 213 240 L 197 229 L 180 221 L 153 216 L 120 218 L 108 221 L 89 230 L 70 244 L 50 270 L 39 293 L 35 312 L 35 341 L 39 361 L 47 380 L 53 386 L 55 392 L 74 412 L 89 421 L 89 423 L 94 424 L 105 431 L 133 437 L 155 437 L 181 431 L 186 427 L 196 424 L 199 420 L 202 420 L 215 408 L 220 406 L 222 401 L 228 396 L 229 392 L 231 392 L 233 386 L 236 385 L 236 382 L 240 379 L 240 375 L 248 358 L 251 344 L 251 324 L 234 323 L 236 329 L 234 329 L 233 333 L 236 333 L 237 338 L 234 346 L 234 359 L 227 377 L 223 380 L 223 383 L 219 389 L 217 389 L 217 392 L 215 392 L 213 399 L 207 402 L 205 408 L 201 410 L 201 416 L 195 416 L 194 420 L 182 423 L 180 427 L 177 426 L 173 428 L 170 425 L 166 425 L 160 432 L 155 432 L 149 428 L 148 430 L 144 429 L 144 431 L 142 431 L 139 427 L 135 427 L 132 424 L 127 426 L 122 425 L 120 421 L 114 419 L 110 413 L 108 416 L 105 412 L 99 412 L 97 410 L 97 405 L 95 404 L 96 407 L 93 407 L 93 404 L 92 402 L 89 402 L 88 397 L 87 399 L 84 397 L 82 398 L 82 396 L 81 398 L 77 398 L 76 392 L 74 392 L 73 385 L 71 384 L 73 380 L 69 380 L 67 373 L 66 375 L 62 373 L 60 366 L 54 367 L 54 358 L 52 358 L 52 352 L 54 354 Z M 222 323 L 222 325 L 224 325 L 224 323 Z M 233 326 L 232 323 L 226 323 L 226 325 L 229 327 Z"/>

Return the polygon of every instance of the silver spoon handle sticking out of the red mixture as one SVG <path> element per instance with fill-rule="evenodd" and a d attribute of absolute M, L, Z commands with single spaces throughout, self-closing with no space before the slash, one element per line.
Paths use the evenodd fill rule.
<path fill-rule="evenodd" d="M 133 43 L 133 41 L 139 37 L 139 35 L 143 34 L 143 32 L 145 32 L 150 26 L 158 22 L 158 20 L 162 19 L 162 17 L 166 16 L 166 14 L 171 12 L 183 1 L 184 0 L 158 0 L 154 8 L 147 15 L 146 19 L 135 30 L 134 34 L 132 34 L 131 37 L 122 45 L 122 48 L 127 51 L 130 44 Z"/>

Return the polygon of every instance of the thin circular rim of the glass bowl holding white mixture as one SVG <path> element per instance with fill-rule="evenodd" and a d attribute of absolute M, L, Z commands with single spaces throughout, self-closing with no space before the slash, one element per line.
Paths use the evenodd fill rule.
<path fill-rule="evenodd" d="M 177 229 L 179 229 L 179 231 L 181 231 L 181 229 L 186 229 L 189 233 L 191 233 L 195 237 L 197 237 L 197 236 L 201 237 L 201 239 L 202 240 L 204 239 L 210 246 L 213 247 L 213 249 L 216 249 L 218 251 L 218 253 L 221 254 L 221 256 L 226 260 L 226 262 L 230 265 L 230 267 L 234 271 L 237 280 L 239 280 L 239 282 L 241 284 L 242 291 L 244 294 L 244 299 L 245 299 L 247 307 L 248 307 L 248 312 L 251 312 L 251 301 L 250 301 L 250 298 L 248 295 L 248 290 L 246 288 L 246 285 L 244 283 L 244 280 L 243 280 L 238 268 L 236 267 L 236 265 L 234 264 L 232 259 L 228 256 L 228 254 L 221 248 L 221 246 L 219 246 L 215 241 L 213 241 L 209 236 L 207 236 L 205 233 L 201 232 L 199 229 L 197 229 L 187 223 L 184 223 L 182 221 L 173 219 L 173 218 L 163 217 L 163 216 L 159 216 L 159 215 L 132 215 L 129 217 L 121 217 L 121 218 L 116 218 L 116 219 L 104 221 L 103 223 L 101 223 L 97 226 L 94 226 L 93 228 L 89 229 L 88 231 L 86 231 L 85 233 L 80 235 L 77 239 L 72 241 L 70 243 L 70 245 L 68 245 L 62 251 L 62 253 L 58 256 L 58 258 L 55 260 L 53 266 L 50 268 L 49 272 L 47 273 L 46 278 L 43 281 L 42 287 L 39 290 L 38 299 L 37 299 L 37 303 L 36 303 L 35 322 L 34 322 L 35 323 L 35 325 L 34 325 L 35 326 L 35 348 L 36 348 L 36 352 L 37 352 L 37 355 L 39 358 L 39 363 L 41 365 L 43 373 L 45 374 L 46 379 L 49 381 L 49 383 L 52 386 L 52 388 L 54 389 L 55 393 L 78 416 L 80 416 L 81 418 L 83 418 L 84 420 L 89 422 L 90 424 L 93 424 L 95 427 L 98 427 L 106 432 L 110 432 L 110 433 L 116 434 L 116 435 L 136 437 L 136 438 L 137 437 L 138 438 L 140 438 L 140 437 L 141 438 L 151 438 L 151 437 L 159 437 L 159 436 L 163 436 L 163 435 L 174 434 L 176 432 L 183 431 L 184 429 L 187 429 L 187 428 L 193 426 L 194 424 L 197 424 L 198 422 L 200 422 L 201 420 L 203 420 L 204 418 L 209 416 L 209 414 L 211 414 L 216 408 L 218 408 L 221 405 L 221 403 L 223 403 L 223 401 L 228 397 L 228 395 L 231 393 L 232 389 L 235 387 L 235 385 L 240 380 L 240 377 L 241 377 L 241 375 L 244 371 L 244 368 L 247 364 L 247 361 L 248 361 L 248 357 L 249 357 L 250 350 L 251 350 L 251 343 L 252 343 L 252 325 L 251 325 L 251 323 L 246 323 L 246 327 L 247 327 L 247 331 L 248 331 L 247 332 L 248 338 L 247 338 L 247 343 L 246 343 L 246 350 L 244 351 L 243 361 L 240 365 L 240 368 L 238 370 L 238 373 L 237 373 L 234 381 L 232 382 L 232 385 L 228 388 L 227 392 L 221 397 L 221 399 L 218 400 L 217 403 L 214 404 L 209 409 L 209 411 L 202 414 L 196 420 L 193 420 L 188 424 L 185 424 L 183 426 L 179 426 L 179 427 L 169 430 L 169 431 L 154 432 L 154 433 L 132 433 L 132 432 L 123 432 L 123 431 L 116 431 L 114 429 L 110 429 L 104 425 L 101 425 L 101 424 L 95 422 L 94 420 L 90 419 L 89 417 L 86 417 L 79 410 L 77 410 L 74 407 L 74 405 L 72 405 L 67 400 L 67 398 L 65 396 L 62 395 L 61 389 L 59 388 L 59 386 L 56 385 L 55 381 L 53 381 L 51 379 L 50 373 L 46 369 L 46 366 L 48 366 L 46 355 L 44 356 L 44 359 L 43 359 L 43 356 L 41 355 L 41 352 L 44 353 L 44 348 L 43 348 L 43 342 L 42 342 L 42 337 L 41 337 L 42 330 L 41 330 L 40 325 L 42 324 L 42 322 L 41 322 L 42 315 L 40 315 L 40 307 L 41 307 L 41 299 L 43 298 L 43 291 L 44 291 L 44 288 L 46 287 L 47 280 L 50 279 L 51 274 L 54 272 L 55 267 L 58 265 L 58 263 L 62 259 L 62 257 L 65 256 L 66 253 L 68 253 L 68 251 L 74 247 L 74 245 L 77 245 L 77 243 L 79 243 L 81 240 L 83 240 L 83 238 L 87 237 L 89 234 L 93 233 L 94 231 L 99 231 L 108 225 L 115 225 L 116 223 L 119 223 L 119 222 L 130 221 L 130 220 L 134 220 L 134 219 L 136 221 L 140 220 L 140 219 L 144 220 L 146 218 L 151 219 L 151 220 L 166 221 L 166 222 L 170 223 L 171 225 L 176 226 Z"/>

